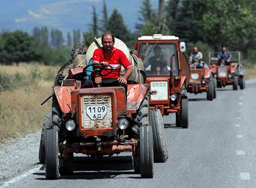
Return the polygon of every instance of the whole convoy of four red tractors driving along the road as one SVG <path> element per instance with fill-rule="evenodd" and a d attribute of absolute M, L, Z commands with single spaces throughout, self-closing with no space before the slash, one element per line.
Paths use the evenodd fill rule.
<path fill-rule="evenodd" d="M 115 66 L 92 62 L 93 52 L 100 47 L 100 38 L 88 48 L 75 45 L 70 61 L 56 75 L 39 148 L 47 179 L 71 175 L 74 154 L 100 160 L 122 152 L 131 152 L 135 173 L 153 178 L 154 163 L 168 160 L 163 116 L 175 113 L 177 127 L 189 126 L 187 92 L 207 92 L 212 101 L 216 87 L 245 87 L 239 61 L 224 65 L 211 58 L 211 66 L 205 63 L 204 68 L 190 69 L 185 43 L 161 34 L 141 36 L 134 50 L 115 38 L 114 47 L 131 62 L 133 73 L 125 87 L 102 87 L 102 78 Z M 120 75 L 124 73 L 122 68 Z M 85 80 L 92 87 L 81 87 Z"/>

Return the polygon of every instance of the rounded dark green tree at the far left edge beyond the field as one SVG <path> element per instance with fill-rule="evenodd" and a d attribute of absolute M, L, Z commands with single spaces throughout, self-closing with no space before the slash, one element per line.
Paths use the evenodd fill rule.
<path fill-rule="evenodd" d="M 36 52 L 35 41 L 24 31 L 4 32 L 1 34 L 0 59 L 4 64 L 30 62 L 40 60 Z"/>

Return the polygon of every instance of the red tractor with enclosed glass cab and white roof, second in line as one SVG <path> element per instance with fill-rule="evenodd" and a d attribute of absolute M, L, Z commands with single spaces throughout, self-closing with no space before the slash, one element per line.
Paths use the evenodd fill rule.
<path fill-rule="evenodd" d="M 135 50 L 147 73 L 150 109 L 158 109 L 161 115 L 176 113 L 176 126 L 188 128 L 190 70 L 183 54 L 185 43 L 176 36 L 154 34 L 138 38 Z"/>

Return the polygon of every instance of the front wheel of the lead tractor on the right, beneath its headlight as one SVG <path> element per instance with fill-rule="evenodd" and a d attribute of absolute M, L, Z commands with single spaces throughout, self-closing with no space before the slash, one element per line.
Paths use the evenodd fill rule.
<path fill-rule="evenodd" d="M 140 175 L 142 178 L 153 178 L 154 148 L 151 126 L 140 127 L 140 141 L 138 145 L 140 147 Z"/>

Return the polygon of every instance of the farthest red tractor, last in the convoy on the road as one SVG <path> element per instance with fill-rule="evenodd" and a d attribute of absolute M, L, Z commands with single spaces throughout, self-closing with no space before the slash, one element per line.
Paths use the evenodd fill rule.
<path fill-rule="evenodd" d="M 245 70 L 243 64 L 240 62 L 240 52 L 230 52 L 232 57 L 237 60 L 231 62 L 218 61 L 214 55 L 212 57 L 209 53 L 211 61 L 211 70 L 214 78 L 217 79 L 216 86 L 218 88 L 225 87 L 226 85 L 233 85 L 233 90 L 245 88 Z M 216 53 L 214 53 L 216 54 Z"/>

